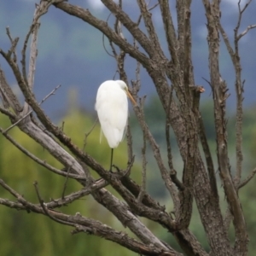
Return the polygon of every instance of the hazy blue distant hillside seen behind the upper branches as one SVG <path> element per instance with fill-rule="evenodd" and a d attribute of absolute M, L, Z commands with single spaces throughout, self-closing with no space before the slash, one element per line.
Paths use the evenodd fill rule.
<path fill-rule="evenodd" d="M 91 7 L 88 1 L 70 1 L 71 3 L 83 3 L 84 8 Z M 236 2 L 236 1 L 235 1 Z M 130 9 L 131 17 L 137 20 L 137 13 L 132 8 L 132 3 L 125 2 L 125 8 Z M 20 50 L 22 42 L 26 36 L 26 32 L 32 21 L 35 1 L 31 0 L 12 0 L 0 1 L 0 47 L 9 48 L 9 40 L 6 36 L 5 27 L 9 26 L 13 37 L 20 37 Z M 236 26 L 237 10 L 236 5 L 230 1 L 224 1 L 222 19 L 224 28 L 230 37 L 233 36 L 233 28 Z M 172 6 L 175 8 L 175 6 Z M 104 9 L 91 9 L 102 20 L 107 20 L 109 13 Z M 158 10 L 153 10 L 155 15 L 155 23 L 163 47 L 165 37 L 161 20 L 157 19 Z M 253 2 L 244 15 L 241 28 L 244 30 L 250 25 L 248 20 L 255 20 L 256 3 Z M 110 18 L 109 22 L 112 22 Z M 252 22 L 252 21 L 251 21 Z M 210 96 L 209 85 L 201 79 L 209 78 L 207 70 L 207 34 L 206 19 L 202 10 L 201 1 L 193 1 L 192 4 L 192 30 L 193 37 L 193 55 L 195 63 L 195 82 L 206 87 L 204 99 Z M 125 33 L 128 40 L 129 34 Z M 245 84 L 245 104 L 253 104 L 255 102 L 255 80 L 256 80 L 256 30 L 251 31 L 247 36 L 241 39 L 241 59 L 243 63 L 243 78 L 246 79 Z M 61 84 L 61 89 L 56 92 L 47 102 L 44 108 L 50 116 L 55 117 L 60 111 L 67 107 L 68 90 L 76 88 L 79 92 L 79 105 L 88 110 L 94 108 L 96 89 L 102 81 L 113 79 L 116 71 L 115 61 L 103 49 L 102 33 L 97 32 L 91 26 L 85 24 L 82 20 L 78 20 L 72 16 L 61 13 L 59 9 L 51 8 L 47 15 L 41 20 L 41 28 L 38 43 L 38 64 L 37 74 L 35 78 L 35 92 L 38 100 L 44 98 L 45 95 L 53 90 L 57 84 Z M 105 46 L 111 53 L 108 41 L 105 38 Z M 167 51 L 166 51 L 167 53 Z M 225 48 L 221 51 L 220 67 L 223 78 L 228 84 L 234 84 L 234 73 L 230 56 Z M 167 54 L 168 55 L 168 54 Z M 1 60 L 1 59 L 0 59 Z M 1 66 L 5 67 L 3 60 L 0 61 Z M 129 79 L 135 79 L 134 70 L 136 63 L 129 60 L 127 56 L 126 70 Z M 8 69 L 9 71 L 9 69 Z M 10 83 L 14 83 L 11 73 L 8 73 Z M 154 93 L 154 87 L 151 80 L 145 73 L 142 73 L 142 91 L 141 95 L 151 95 Z M 231 96 L 229 100 L 230 108 L 234 106 L 235 97 L 230 90 Z"/>

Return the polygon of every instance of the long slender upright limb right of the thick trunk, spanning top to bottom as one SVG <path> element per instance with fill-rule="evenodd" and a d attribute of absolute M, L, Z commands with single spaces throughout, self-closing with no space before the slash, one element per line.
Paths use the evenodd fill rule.
<path fill-rule="evenodd" d="M 211 84 L 214 102 L 214 118 L 217 134 L 217 155 L 220 177 L 224 183 L 224 191 L 230 206 L 230 211 L 234 216 L 234 226 L 236 231 L 236 244 L 239 251 L 245 252 L 247 249 L 247 231 L 243 218 L 241 204 L 238 199 L 235 184 L 230 175 L 230 160 L 228 156 L 227 131 L 225 126 L 225 100 L 227 98 L 227 86 L 221 79 L 218 68 L 218 24 L 219 6 L 218 3 L 209 5 L 208 1 L 203 1 L 207 12 L 208 44 L 209 44 L 209 66 L 211 67 Z"/>

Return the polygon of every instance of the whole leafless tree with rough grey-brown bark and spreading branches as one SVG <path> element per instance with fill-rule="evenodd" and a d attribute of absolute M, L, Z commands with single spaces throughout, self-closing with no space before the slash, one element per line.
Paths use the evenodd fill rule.
<path fill-rule="evenodd" d="M 243 171 L 241 167 L 243 160 L 242 101 L 245 81 L 241 79 L 239 40 L 256 26 L 250 25 L 242 32 L 238 32 L 241 29 L 242 15 L 244 15 L 252 0 L 248 0 L 243 7 L 241 7 L 241 1 L 238 1 L 238 20 L 234 38 L 232 38 L 234 40 L 233 46 L 233 42 L 228 38 L 224 27 L 220 23 L 220 2 L 219 0 L 202 0 L 207 16 L 210 73 L 210 81 L 207 81 L 207 83 L 210 84 L 212 89 L 212 102 L 214 103 L 218 163 L 213 161 L 210 143 L 207 141 L 206 128 L 200 113 L 201 93 L 205 90 L 202 86 L 195 85 L 194 79 L 191 43 L 191 38 L 193 38 L 191 14 L 194 10 L 191 9 L 191 0 L 177 1 L 176 9 L 172 7 L 173 3 L 167 0 L 154 1 L 154 3 L 137 0 L 137 5 L 134 5 L 138 11 L 136 21 L 132 20 L 132 15 L 128 15 L 129 12 L 126 11 L 126 5 L 123 4 L 122 0 L 119 0 L 118 3 L 113 0 L 102 0 L 105 9 L 108 9 L 110 15 L 115 17 L 113 22 L 100 20 L 92 15 L 89 9 L 83 9 L 67 3 L 67 1 L 42 0 L 36 5 L 32 25 L 28 29 L 24 44 L 21 45 L 21 66 L 18 60 L 19 55 L 16 53 L 19 38 L 13 37 L 9 27 L 7 27 L 9 49 L 6 51 L 0 49 L 0 55 L 14 73 L 15 80 L 25 98 L 25 103 L 24 106 L 21 106 L 18 97 L 15 96 L 15 90 L 12 90 L 7 79 L 5 79 L 7 73 L 4 74 L 0 68 L 0 96 L 3 102 L 3 105 L 0 106 L 0 113 L 7 116 L 11 122 L 8 128 L 0 127 L 0 132 L 4 138 L 8 139 L 10 143 L 36 164 L 43 166 L 50 172 L 66 177 L 66 180 L 61 191 L 61 198 L 51 199 L 50 201 L 44 201 L 44 195 L 41 195 L 38 188 L 40 181 L 34 183 L 35 195 L 38 196 L 39 201 L 39 203 L 34 204 L 27 201 L 25 196 L 20 195 L 15 187 L 10 187 L 0 179 L 0 185 L 5 190 L 4 192 L 8 192 L 9 196 L 14 196 L 16 200 L 0 198 L 0 204 L 17 210 L 43 214 L 55 222 L 73 227 L 73 234 L 84 232 L 100 236 L 130 249 L 132 252 L 143 255 L 181 255 L 165 241 L 160 241 L 154 230 L 149 230 L 147 221 L 153 221 L 158 228 L 165 229 L 168 234 L 172 234 L 185 255 L 246 256 L 248 247 L 247 230 L 238 190 L 254 177 L 256 171 L 253 169 L 248 177 L 241 181 Z M 86 139 L 90 136 L 94 126 L 85 134 L 84 148 L 81 149 L 73 143 L 71 137 L 67 137 L 65 134 L 64 122 L 61 127 L 55 125 L 41 108 L 41 104 L 49 96 L 54 95 L 55 90 L 60 85 L 52 90 L 48 96 L 45 96 L 42 102 L 38 102 L 33 94 L 38 58 L 37 43 L 40 39 L 38 38 L 40 17 L 48 12 L 51 5 L 62 11 L 63 15 L 73 15 L 102 32 L 103 44 L 105 38 L 108 38 L 114 61 L 116 61 L 113 78 L 119 76 L 119 79 L 124 80 L 129 90 L 131 90 L 131 94 L 137 102 L 140 102 L 140 105 L 134 106 L 133 110 L 137 116 L 140 129 L 143 131 L 142 167 L 141 171 L 137 172 L 143 173 L 141 185 L 131 179 L 132 175 L 130 177 L 131 172 L 136 169 L 133 163 L 137 149 L 134 148 L 136 143 L 132 142 L 132 129 L 129 125 L 127 126 L 126 136 L 128 163 L 124 170 L 115 166 L 117 172 L 108 172 L 87 153 L 89 145 L 86 145 Z M 154 22 L 156 18 L 159 19 L 156 15 L 161 15 L 162 31 L 158 29 L 158 24 Z M 174 20 L 176 17 L 177 20 Z M 47 15 L 45 18 L 47 18 Z M 44 22 L 43 19 L 42 22 Z M 166 56 L 166 49 L 162 47 L 162 41 L 159 39 L 163 32 L 166 35 L 168 56 Z M 224 44 L 230 54 L 236 73 L 236 176 L 234 178 L 230 173 L 231 160 L 229 159 L 228 147 L 232 144 L 228 143 L 225 113 L 229 87 L 221 79 L 218 67 L 219 33 L 224 39 Z M 27 49 L 29 40 L 31 40 L 31 47 Z M 105 48 L 105 45 L 103 47 Z M 28 50 L 29 53 L 27 53 Z M 26 64 L 27 54 L 30 54 L 28 65 Z M 131 71 L 127 70 L 127 63 L 130 60 L 137 63 L 134 67 L 134 80 L 130 78 Z M 27 66 L 28 73 L 26 73 Z M 140 96 L 140 90 L 146 88 L 147 84 L 144 84 L 144 77 L 141 79 L 141 73 L 146 73 L 148 78 L 152 80 L 160 100 L 160 107 L 166 113 L 166 119 L 157 124 L 164 125 L 166 129 L 166 154 L 160 148 L 161 144 L 157 143 L 157 138 L 151 133 L 151 129 L 148 128 L 145 120 L 144 99 Z M 130 84 L 131 86 L 129 86 Z M 47 153 L 53 156 L 56 163 L 61 164 L 63 168 L 61 170 L 55 168 L 55 164 L 50 165 L 49 161 L 40 159 L 35 153 L 27 150 L 26 145 L 17 143 L 16 137 L 9 132 L 13 127 L 20 129 L 21 132 L 45 148 Z M 171 129 L 174 133 L 173 138 L 170 135 Z M 172 139 L 177 141 L 175 143 L 177 144 L 177 153 L 181 156 L 181 162 L 179 163 L 174 159 L 176 148 L 173 147 L 174 143 L 171 143 Z M 146 177 L 148 178 L 148 168 L 150 168 L 150 166 L 147 166 L 146 151 L 149 150 L 152 150 L 154 154 L 154 160 L 157 164 L 156 172 L 160 172 L 164 182 L 163 186 L 169 192 L 166 205 L 162 199 L 162 205 L 160 205 L 153 198 L 153 195 L 149 195 L 151 191 L 148 188 L 146 189 Z M 205 161 L 203 160 L 204 157 Z M 218 165 L 218 173 L 215 172 L 215 164 Z M 181 170 L 181 166 L 183 166 L 183 170 Z M 94 176 L 95 174 L 97 179 Z M 221 202 L 218 196 L 217 174 L 221 177 L 228 204 L 224 216 L 220 210 Z M 73 178 L 72 183 L 77 182 L 82 188 L 79 191 L 75 189 L 75 192 L 66 195 L 67 183 L 68 187 L 71 184 L 71 181 L 68 181 L 69 177 Z M 109 214 L 119 221 L 119 224 L 129 229 L 132 236 L 136 236 L 136 238 L 131 238 L 123 231 L 115 230 L 96 219 L 81 216 L 79 213 L 68 215 L 55 210 L 58 208 L 61 211 L 61 207 L 70 205 L 86 195 L 92 196 L 92 202 L 90 203 L 105 207 Z M 193 201 L 195 201 L 195 204 L 193 204 Z M 170 212 L 166 206 L 171 206 L 173 211 Z M 210 250 L 209 254 L 189 230 L 194 206 L 197 207 L 201 224 L 205 230 L 208 241 L 207 247 Z M 146 219 L 146 222 L 142 221 L 141 218 Z M 234 245 L 230 242 L 228 236 L 231 220 L 235 227 L 236 241 Z"/>

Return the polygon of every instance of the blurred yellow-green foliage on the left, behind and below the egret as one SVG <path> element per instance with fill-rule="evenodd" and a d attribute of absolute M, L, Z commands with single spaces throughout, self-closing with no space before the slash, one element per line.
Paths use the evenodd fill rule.
<path fill-rule="evenodd" d="M 64 131 L 72 137 L 73 142 L 80 148 L 84 145 L 84 133 L 90 131 L 93 120 L 86 114 L 73 109 L 74 112 L 67 114 L 64 120 Z M 3 114 L 0 115 L 1 125 L 7 128 L 9 120 Z M 30 137 L 21 133 L 17 128 L 12 129 L 9 134 L 17 142 L 30 150 L 50 165 L 61 168 L 62 166 L 49 155 L 38 143 Z M 109 166 L 110 149 L 105 140 L 99 143 L 99 125 L 88 137 L 85 150 L 106 168 Z M 8 140 L 0 136 L 0 178 L 13 187 L 26 200 L 38 203 L 33 182 L 38 181 L 38 188 L 44 201 L 51 198 L 60 198 L 65 183 L 65 177 L 57 176 L 47 171 L 43 166 L 38 166 L 25 154 L 20 153 Z M 125 168 L 127 154 L 125 143 L 114 152 L 114 163 L 120 168 Z M 81 189 L 81 185 L 72 179 L 67 181 L 66 195 Z M 14 200 L 15 198 L 0 187 L 0 196 Z M 118 230 L 124 230 L 118 220 L 108 213 L 106 209 L 99 206 L 90 196 L 74 202 L 71 206 L 61 208 L 62 212 L 82 215 L 101 220 Z M 39 214 L 16 211 L 8 207 L 0 206 L 0 247 L 1 255 L 133 255 L 125 248 L 114 245 L 95 236 L 78 234 L 72 236 L 71 227 L 57 224 Z M 114 248 L 114 249 L 113 249 Z"/>

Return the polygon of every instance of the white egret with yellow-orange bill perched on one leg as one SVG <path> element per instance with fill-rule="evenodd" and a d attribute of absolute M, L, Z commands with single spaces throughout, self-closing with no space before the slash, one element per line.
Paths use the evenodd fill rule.
<path fill-rule="evenodd" d="M 110 171 L 112 170 L 113 148 L 122 141 L 128 119 L 128 99 L 136 105 L 127 85 L 122 80 L 108 80 L 102 83 L 96 95 L 96 112 L 102 132 L 111 148 Z M 100 141 L 102 141 L 102 132 Z"/>

